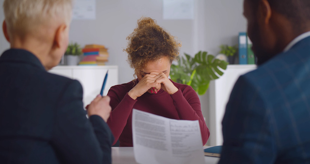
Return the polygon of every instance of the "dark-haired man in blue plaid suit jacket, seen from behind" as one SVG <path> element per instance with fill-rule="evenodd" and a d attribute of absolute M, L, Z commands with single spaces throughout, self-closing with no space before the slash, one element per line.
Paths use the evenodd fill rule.
<path fill-rule="evenodd" d="M 244 0 L 258 68 L 235 83 L 220 164 L 310 163 L 310 0 Z"/>

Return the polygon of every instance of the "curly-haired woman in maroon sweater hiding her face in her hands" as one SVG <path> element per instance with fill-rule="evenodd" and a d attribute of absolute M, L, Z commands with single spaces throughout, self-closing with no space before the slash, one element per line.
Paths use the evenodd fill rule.
<path fill-rule="evenodd" d="M 112 107 L 109 127 L 120 146 L 133 146 L 132 109 L 173 119 L 199 120 L 202 145 L 210 135 L 202 116 L 200 100 L 191 86 L 168 79 L 172 61 L 181 44 L 158 26 L 152 18 L 142 17 L 127 40 L 128 62 L 137 79 L 110 88 Z"/>

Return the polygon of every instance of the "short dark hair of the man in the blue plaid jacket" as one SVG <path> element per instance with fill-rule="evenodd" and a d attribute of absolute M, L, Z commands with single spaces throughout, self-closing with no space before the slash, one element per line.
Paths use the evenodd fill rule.
<path fill-rule="evenodd" d="M 248 0 L 257 9 L 261 0 Z M 271 9 L 288 18 L 292 23 L 302 25 L 310 20 L 310 0 L 268 0 Z"/>

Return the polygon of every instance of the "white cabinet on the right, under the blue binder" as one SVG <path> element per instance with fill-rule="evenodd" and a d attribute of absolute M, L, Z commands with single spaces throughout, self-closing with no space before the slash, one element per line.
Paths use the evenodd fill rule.
<path fill-rule="evenodd" d="M 223 144 L 222 119 L 226 104 L 240 75 L 256 69 L 256 65 L 228 65 L 224 75 L 209 85 L 209 145 Z"/>

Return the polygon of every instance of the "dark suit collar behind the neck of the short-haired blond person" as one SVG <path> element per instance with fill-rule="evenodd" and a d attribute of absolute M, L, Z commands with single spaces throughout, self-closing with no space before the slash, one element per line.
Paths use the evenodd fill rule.
<path fill-rule="evenodd" d="M 25 63 L 45 70 L 40 60 L 25 49 L 8 49 L 4 51 L 0 56 L 0 63 L 2 62 Z"/>

